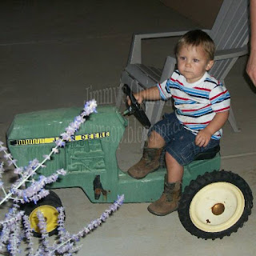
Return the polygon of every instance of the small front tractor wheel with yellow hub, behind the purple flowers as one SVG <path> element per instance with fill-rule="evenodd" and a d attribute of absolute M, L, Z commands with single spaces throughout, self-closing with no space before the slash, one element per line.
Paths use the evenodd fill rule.
<path fill-rule="evenodd" d="M 35 237 L 41 237 L 40 229 L 38 227 L 37 212 L 41 210 L 46 220 L 46 231 L 51 236 L 57 234 L 58 230 L 58 207 L 62 207 L 62 202 L 58 195 L 50 190 L 50 194 L 46 198 L 42 198 L 34 204 L 30 202 L 24 205 L 25 214 L 29 216 L 30 226 L 34 230 Z"/>

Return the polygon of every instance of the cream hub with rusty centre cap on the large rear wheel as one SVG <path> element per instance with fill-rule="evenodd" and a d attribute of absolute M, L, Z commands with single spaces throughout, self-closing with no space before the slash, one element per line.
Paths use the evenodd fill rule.
<path fill-rule="evenodd" d="M 190 203 L 190 219 L 206 232 L 221 232 L 234 226 L 245 208 L 242 191 L 229 182 L 204 186 Z"/>

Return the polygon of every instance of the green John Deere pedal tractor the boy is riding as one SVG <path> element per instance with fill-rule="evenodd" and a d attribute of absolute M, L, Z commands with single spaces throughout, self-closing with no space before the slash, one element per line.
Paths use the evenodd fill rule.
<path fill-rule="evenodd" d="M 124 89 L 132 102 L 128 111 L 149 127 L 150 122 L 129 87 Z M 45 176 L 62 168 L 67 171 L 50 189 L 80 187 L 90 202 L 114 202 L 120 194 L 125 195 L 125 202 L 154 202 L 162 194 L 166 169 L 162 167 L 141 180 L 120 170 L 116 150 L 127 120 L 114 106 L 98 106 L 97 111 L 90 115 L 72 141 L 66 143 L 59 154 L 54 154 L 54 161 L 47 162 L 41 170 Z M 34 158 L 42 160 L 79 112 L 73 107 L 16 115 L 7 133 L 7 144 L 18 165 L 27 166 Z M 198 238 L 223 238 L 236 232 L 247 221 L 253 207 L 248 184 L 238 174 L 219 170 L 218 151 L 219 148 L 215 148 L 198 155 L 185 166 L 178 216 L 185 229 Z M 58 206 L 62 206 L 62 202 L 53 191 L 38 204 L 26 206 L 35 235 L 40 235 L 37 210 L 42 210 L 46 218 L 47 232 L 54 234 Z"/>

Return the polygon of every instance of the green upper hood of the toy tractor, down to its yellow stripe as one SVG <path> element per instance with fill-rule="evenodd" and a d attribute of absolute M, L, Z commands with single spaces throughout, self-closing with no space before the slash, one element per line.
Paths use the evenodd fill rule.
<path fill-rule="evenodd" d="M 93 138 L 100 136 L 98 133 L 106 133 L 113 129 L 112 133 L 119 129 L 124 130 L 127 125 L 126 119 L 122 118 L 114 106 L 98 106 L 97 112 L 86 118 L 86 122 L 76 135 Z M 17 114 L 7 132 L 8 144 L 38 144 L 40 141 L 36 143 L 35 139 L 42 139 L 41 142 L 54 142 L 54 138 L 58 138 L 80 113 L 80 108 L 72 107 Z"/>

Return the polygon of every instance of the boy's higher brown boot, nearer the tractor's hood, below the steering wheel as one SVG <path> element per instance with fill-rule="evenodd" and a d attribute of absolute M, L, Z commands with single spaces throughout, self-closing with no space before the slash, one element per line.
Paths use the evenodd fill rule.
<path fill-rule="evenodd" d="M 143 155 L 139 162 L 130 167 L 128 174 L 133 178 L 144 178 L 147 174 L 158 170 L 160 166 L 160 156 L 163 148 L 148 148 L 143 149 Z"/>

